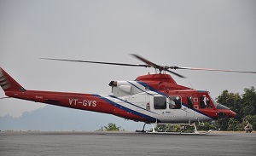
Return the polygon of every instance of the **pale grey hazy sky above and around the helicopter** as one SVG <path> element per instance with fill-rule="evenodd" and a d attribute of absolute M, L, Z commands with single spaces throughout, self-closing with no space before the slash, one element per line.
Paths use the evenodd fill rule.
<path fill-rule="evenodd" d="M 142 63 L 129 55 L 138 54 L 160 65 L 256 71 L 254 0 L 1 0 L 0 23 L 0 66 L 26 90 L 108 95 L 111 80 L 154 72 L 39 57 Z M 213 97 L 256 87 L 256 74 L 176 72 L 187 77 L 173 76 L 178 84 Z M 4 99 L 0 116 L 44 106 Z"/>

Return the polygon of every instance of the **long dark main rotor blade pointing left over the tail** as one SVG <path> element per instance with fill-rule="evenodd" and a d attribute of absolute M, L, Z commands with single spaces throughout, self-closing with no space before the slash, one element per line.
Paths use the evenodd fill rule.
<path fill-rule="evenodd" d="M 39 59 L 51 60 L 51 61 L 75 61 L 75 60 L 50 59 L 50 58 L 39 58 Z M 96 63 L 96 64 L 105 64 L 105 65 L 117 65 L 117 66 L 143 66 L 143 67 L 150 67 L 148 65 L 126 64 L 126 63 L 111 63 L 111 62 L 103 62 L 103 61 L 75 61 L 75 62 Z"/>

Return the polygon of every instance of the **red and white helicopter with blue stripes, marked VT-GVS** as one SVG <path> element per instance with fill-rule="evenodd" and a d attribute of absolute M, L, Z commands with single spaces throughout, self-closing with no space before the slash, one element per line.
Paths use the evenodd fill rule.
<path fill-rule="evenodd" d="M 14 78 L 0 68 L 0 84 L 5 95 L 27 101 L 47 103 L 60 107 L 70 107 L 108 113 L 115 116 L 144 122 L 145 124 L 194 124 L 217 120 L 218 118 L 234 118 L 236 113 L 228 107 L 218 104 L 205 90 L 194 90 L 179 85 L 166 72 L 177 77 L 182 75 L 172 72 L 172 69 L 207 70 L 219 72 L 230 71 L 207 68 L 191 68 L 181 66 L 159 66 L 139 55 L 133 55 L 145 64 L 123 64 L 99 61 L 75 61 L 118 66 L 154 67 L 159 73 L 143 75 L 133 81 L 111 81 L 112 95 L 96 95 L 83 93 L 52 92 L 41 90 L 26 90 Z M 73 61 L 48 59 L 54 61 Z M 163 73 L 162 73 L 163 72 Z M 256 72 L 247 72 L 256 73 Z M 144 127 L 143 130 L 144 131 Z M 195 124 L 194 124 L 195 125 Z M 153 129 L 154 130 L 154 129 Z M 155 132 L 155 131 L 154 131 Z M 195 127 L 195 133 L 198 133 Z"/>

